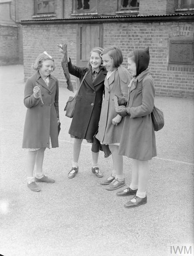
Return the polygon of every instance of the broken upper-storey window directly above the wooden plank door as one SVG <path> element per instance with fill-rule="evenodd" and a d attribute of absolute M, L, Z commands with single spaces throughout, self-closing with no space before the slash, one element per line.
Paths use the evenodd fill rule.
<path fill-rule="evenodd" d="M 74 0 L 74 12 L 96 12 L 97 0 Z"/>

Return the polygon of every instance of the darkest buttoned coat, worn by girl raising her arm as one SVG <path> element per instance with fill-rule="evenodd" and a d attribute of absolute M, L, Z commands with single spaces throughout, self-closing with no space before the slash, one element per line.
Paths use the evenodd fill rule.
<path fill-rule="evenodd" d="M 82 81 L 86 71 L 88 74 L 84 78 L 81 88 L 78 92 L 75 104 L 75 111 L 69 129 L 69 134 L 92 140 L 98 130 L 98 121 L 102 106 L 104 80 L 107 71 L 100 69 L 98 76 L 92 83 L 91 67 L 77 67 L 68 62 L 69 73 L 77 76 Z"/>

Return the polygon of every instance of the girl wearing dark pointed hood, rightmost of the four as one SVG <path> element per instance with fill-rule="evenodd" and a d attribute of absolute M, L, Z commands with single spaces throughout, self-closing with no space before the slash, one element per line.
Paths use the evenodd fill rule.
<path fill-rule="evenodd" d="M 116 113 L 125 116 L 119 155 L 133 159 L 131 184 L 116 194 L 135 195 L 124 205 L 126 208 L 147 203 L 148 160 L 156 156 L 155 133 L 151 119 L 155 89 L 148 69 L 149 60 L 149 48 L 134 50 L 128 54 L 128 65 L 133 76 L 129 84 L 128 102 L 126 106 L 116 107 Z"/>

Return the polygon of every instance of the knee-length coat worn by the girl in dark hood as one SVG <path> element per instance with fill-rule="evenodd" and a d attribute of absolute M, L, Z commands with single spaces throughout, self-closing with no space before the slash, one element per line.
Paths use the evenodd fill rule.
<path fill-rule="evenodd" d="M 148 69 L 129 88 L 127 115 L 123 124 L 119 155 L 138 160 L 156 156 L 155 132 L 151 119 L 155 89 Z"/>

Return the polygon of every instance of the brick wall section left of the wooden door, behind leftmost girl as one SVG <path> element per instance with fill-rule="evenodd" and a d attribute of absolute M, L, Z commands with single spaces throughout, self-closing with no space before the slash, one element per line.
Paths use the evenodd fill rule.
<path fill-rule="evenodd" d="M 60 85 L 65 85 L 65 78 L 61 67 L 62 53 L 59 52 L 57 44 L 68 44 L 68 53 L 73 63 L 76 63 L 76 24 L 56 24 L 56 25 L 23 25 L 23 55 L 24 55 L 24 76 L 25 80 L 34 74 L 32 64 L 35 59 L 46 51 L 54 60 L 56 69 L 53 75 L 60 81 Z M 71 77 L 75 85 L 75 76 Z M 65 85 L 66 86 L 66 85 Z"/>

